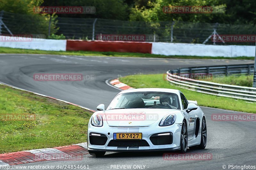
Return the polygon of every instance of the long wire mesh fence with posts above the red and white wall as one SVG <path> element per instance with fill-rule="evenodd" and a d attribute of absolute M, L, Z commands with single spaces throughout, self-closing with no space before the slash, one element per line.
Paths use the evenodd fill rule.
<path fill-rule="evenodd" d="M 46 37 L 52 34 L 63 34 L 66 39 L 80 40 L 102 40 L 102 35 L 147 35 L 149 42 L 255 45 L 253 41 L 214 42 L 213 37 L 217 37 L 218 34 L 256 35 L 256 26 L 254 25 L 181 21 L 138 22 L 100 18 L 53 17 L 50 19 L 45 16 L 21 15 L 4 11 L 0 13 L 1 22 L 0 34 L 10 34 L 10 32 L 12 34 L 44 34 Z M 213 36 L 214 34 L 215 36 Z M 207 38 L 209 39 L 205 42 Z"/>

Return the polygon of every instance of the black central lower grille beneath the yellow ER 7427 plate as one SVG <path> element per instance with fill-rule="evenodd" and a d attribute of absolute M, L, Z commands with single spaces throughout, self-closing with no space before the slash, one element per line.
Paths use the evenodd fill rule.
<path fill-rule="evenodd" d="M 140 147 L 140 146 L 149 146 L 146 140 L 111 140 L 108 143 L 108 146 L 116 147 Z"/>

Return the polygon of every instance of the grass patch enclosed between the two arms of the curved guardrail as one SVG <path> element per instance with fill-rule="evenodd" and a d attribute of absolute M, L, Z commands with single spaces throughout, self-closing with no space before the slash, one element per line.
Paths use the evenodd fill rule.
<path fill-rule="evenodd" d="M 201 79 L 201 80 L 228 84 L 228 85 L 241 85 L 241 86 L 252 87 L 253 75 L 221 76 L 221 77 L 218 76 L 218 77 L 212 77 L 210 79 Z"/>

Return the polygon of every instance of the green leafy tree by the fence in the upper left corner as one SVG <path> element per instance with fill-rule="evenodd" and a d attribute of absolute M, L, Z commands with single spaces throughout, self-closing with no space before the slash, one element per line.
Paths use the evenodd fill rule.
<path fill-rule="evenodd" d="M 2 0 L 0 11 L 4 10 L 3 20 L 13 34 L 44 34 L 47 37 L 50 15 L 33 11 L 34 6 L 40 6 L 42 3 L 43 0 Z M 52 16 L 51 33 L 58 30 L 56 17 Z"/>

